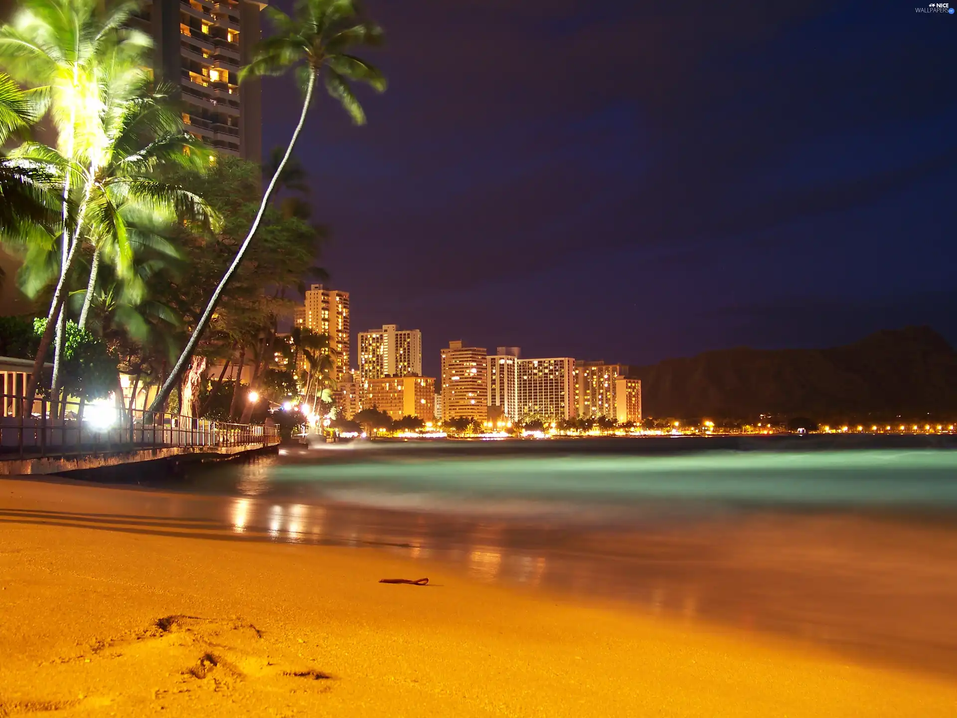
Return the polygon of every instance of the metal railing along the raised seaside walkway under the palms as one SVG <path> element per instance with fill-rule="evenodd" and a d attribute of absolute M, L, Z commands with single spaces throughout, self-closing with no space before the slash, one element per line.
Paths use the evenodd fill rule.
<path fill-rule="evenodd" d="M 114 404 L 36 399 L 0 394 L 0 460 L 122 453 L 137 449 L 275 446 L 278 427 L 234 424 Z"/>

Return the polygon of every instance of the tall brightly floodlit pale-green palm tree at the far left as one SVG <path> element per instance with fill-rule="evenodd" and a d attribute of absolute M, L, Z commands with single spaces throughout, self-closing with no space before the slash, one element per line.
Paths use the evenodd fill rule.
<path fill-rule="evenodd" d="M 84 153 L 95 152 L 104 141 L 104 92 L 119 95 L 123 79 L 135 83 L 147 74 L 151 40 L 145 33 L 124 27 L 138 5 L 135 0 L 109 7 L 101 0 L 22 0 L 11 23 L 0 29 L 0 61 L 14 78 L 34 83 L 38 97 L 49 101 L 58 149 L 70 162 L 69 170 L 62 173 L 59 279 L 24 399 L 28 408 L 55 330 L 57 347 L 62 342 L 65 283 L 79 245 L 74 225 L 82 221 L 85 204 L 80 200 L 81 209 L 74 220 L 70 213 L 76 178 L 73 168 Z M 106 68 L 111 71 L 104 73 Z M 88 196 L 91 190 L 87 185 L 81 196 Z M 54 361 L 55 386 L 59 353 L 57 350 Z"/>

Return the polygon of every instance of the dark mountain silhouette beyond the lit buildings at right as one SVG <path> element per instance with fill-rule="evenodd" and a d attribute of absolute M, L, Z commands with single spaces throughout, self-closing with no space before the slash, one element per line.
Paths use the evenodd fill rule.
<path fill-rule="evenodd" d="M 634 374 L 646 416 L 957 415 L 957 352 L 928 326 L 846 347 L 708 351 Z"/>

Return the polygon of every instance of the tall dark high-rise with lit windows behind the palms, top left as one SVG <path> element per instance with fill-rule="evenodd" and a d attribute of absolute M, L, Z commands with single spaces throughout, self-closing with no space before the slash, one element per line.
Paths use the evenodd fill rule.
<path fill-rule="evenodd" d="M 180 91 L 189 132 L 221 152 L 255 162 L 262 155 L 259 80 L 239 86 L 260 38 L 253 0 L 153 0 L 133 22 L 154 41 L 153 70 Z"/>

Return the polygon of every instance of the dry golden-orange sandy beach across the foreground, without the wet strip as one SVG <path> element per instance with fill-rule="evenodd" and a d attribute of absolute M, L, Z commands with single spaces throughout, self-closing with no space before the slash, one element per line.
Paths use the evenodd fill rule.
<path fill-rule="evenodd" d="M 957 714 L 957 684 L 917 670 L 159 501 L 177 498 L 0 481 L 0 715 Z"/>

